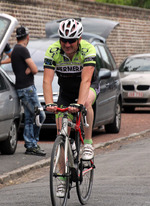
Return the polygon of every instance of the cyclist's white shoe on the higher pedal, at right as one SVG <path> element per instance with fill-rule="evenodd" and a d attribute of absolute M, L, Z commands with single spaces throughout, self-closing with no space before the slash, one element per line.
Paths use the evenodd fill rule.
<path fill-rule="evenodd" d="M 85 144 L 82 152 L 83 160 L 91 160 L 94 157 L 94 148 L 91 144 Z"/>

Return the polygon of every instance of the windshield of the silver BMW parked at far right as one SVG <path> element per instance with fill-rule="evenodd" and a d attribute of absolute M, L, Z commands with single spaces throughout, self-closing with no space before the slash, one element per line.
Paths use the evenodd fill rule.
<path fill-rule="evenodd" d="M 119 68 L 120 72 L 150 71 L 150 57 L 127 59 Z"/>

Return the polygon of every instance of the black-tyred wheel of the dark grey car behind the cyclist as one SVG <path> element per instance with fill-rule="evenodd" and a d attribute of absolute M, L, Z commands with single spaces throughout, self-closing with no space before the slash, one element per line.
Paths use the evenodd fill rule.
<path fill-rule="evenodd" d="M 115 118 L 113 123 L 105 125 L 107 133 L 118 133 L 121 126 L 121 104 L 120 101 L 116 104 Z"/>

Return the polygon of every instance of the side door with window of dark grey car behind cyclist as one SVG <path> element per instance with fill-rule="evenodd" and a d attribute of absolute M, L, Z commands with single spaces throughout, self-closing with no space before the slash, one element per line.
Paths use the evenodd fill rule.
<path fill-rule="evenodd" d="M 115 86 L 115 70 L 110 60 L 107 48 L 104 45 L 97 45 L 97 53 L 100 53 L 103 68 L 111 71 L 111 77 L 100 81 L 100 94 L 96 103 L 95 122 L 106 123 L 114 118 L 117 87 Z"/>

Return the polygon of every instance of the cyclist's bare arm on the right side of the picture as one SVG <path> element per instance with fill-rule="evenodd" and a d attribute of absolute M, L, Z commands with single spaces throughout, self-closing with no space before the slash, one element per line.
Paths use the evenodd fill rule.
<path fill-rule="evenodd" d="M 94 72 L 94 66 L 84 66 L 81 74 L 81 84 L 79 89 L 78 104 L 85 104 L 89 89 L 91 85 L 91 80 Z"/>

